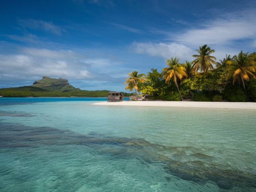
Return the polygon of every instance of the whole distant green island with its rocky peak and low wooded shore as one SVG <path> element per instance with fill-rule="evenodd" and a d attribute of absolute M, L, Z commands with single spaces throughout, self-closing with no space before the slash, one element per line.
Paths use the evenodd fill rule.
<path fill-rule="evenodd" d="M 108 90 L 87 91 L 70 85 L 67 79 L 44 76 L 33 85 L 0 89 L 3 97 L 106 97 Z M 124 97 L 134 93 L 122 92 Z"/>

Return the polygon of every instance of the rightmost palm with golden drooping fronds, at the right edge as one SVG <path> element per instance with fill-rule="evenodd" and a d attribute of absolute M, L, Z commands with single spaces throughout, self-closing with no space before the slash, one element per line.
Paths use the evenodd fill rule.
<path fill-rule="evenodd" d="M 256 62 L 254 61 L 253 55 L 248 55 L 249 52 L 243 53 L 241 51 L 238 56 L 233 57 L 233 61 L 229 66 L 230 72 L 233 77 L 233 85 L 238 81 L 240 84 L 240 80 L 242 80 L 243 87 L 245 89 L 245 82 L 249 81 L 250 78 L 255 78 L 253 72 L 256 69 Z"/>

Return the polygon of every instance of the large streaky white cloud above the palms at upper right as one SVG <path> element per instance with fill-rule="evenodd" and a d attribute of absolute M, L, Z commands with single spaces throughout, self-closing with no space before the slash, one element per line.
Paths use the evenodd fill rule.
<path fill-rule="evenodd" d="M 216 50 L 213 54 L 223 59 L 225 54 L 235 55 L 240 50 L 254 50 L 256 47 L 256 12 L 253 8 L 235 13 L 217 12 L 218 17 L 200 22 L 198 26 L 175 33 L 151 28 L 152 34 L 164 35 L 165 42 L 135 42 L 132 49 L 138 54 L 148 54 L 165 59 L 177 56 L 182 60 L 192 60 L 195 49 L 203 44 Z M 179 21 L 178 21 L 179 22 Z M 167 41 L 167 42 L 166 42 Z M 239 41 L 247 42 L 238 44 Z M 237 47 L 236 49 L 234 47 Z"/>

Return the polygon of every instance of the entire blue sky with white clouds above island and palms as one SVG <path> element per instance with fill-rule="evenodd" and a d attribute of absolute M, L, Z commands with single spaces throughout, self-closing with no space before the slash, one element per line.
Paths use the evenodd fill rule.
<path fill-rule="evenodd" d="M 82 90 L 125 91 L 127 74 L 166 59 L 217 61 L 256 51 L 256 1 L 1 0 L 0 88 L 66 78 Z"/>

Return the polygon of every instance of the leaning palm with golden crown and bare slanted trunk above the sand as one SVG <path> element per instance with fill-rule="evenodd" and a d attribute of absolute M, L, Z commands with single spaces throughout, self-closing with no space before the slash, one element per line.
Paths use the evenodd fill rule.
<path fill-rule="evenodd" d="M 165 83 L 170 84 L 170 81 L 172 79 L 178 89 L 181 100 L 183 100 L 178 83 L 177 83 L 177 79 L 180 79 L 181 81 L 184 77 L 187 76 L 186 68 L 182 66 L 180 63 L 178 63 L 179 59 L 176 59 L 176 57 L 174 59 L 171 58 L 171 60 L 167 60 L 166 62 L 168 67 L 165 67 L 162 69 L 162 71 L 165 73 L 164 75 Z"/>

